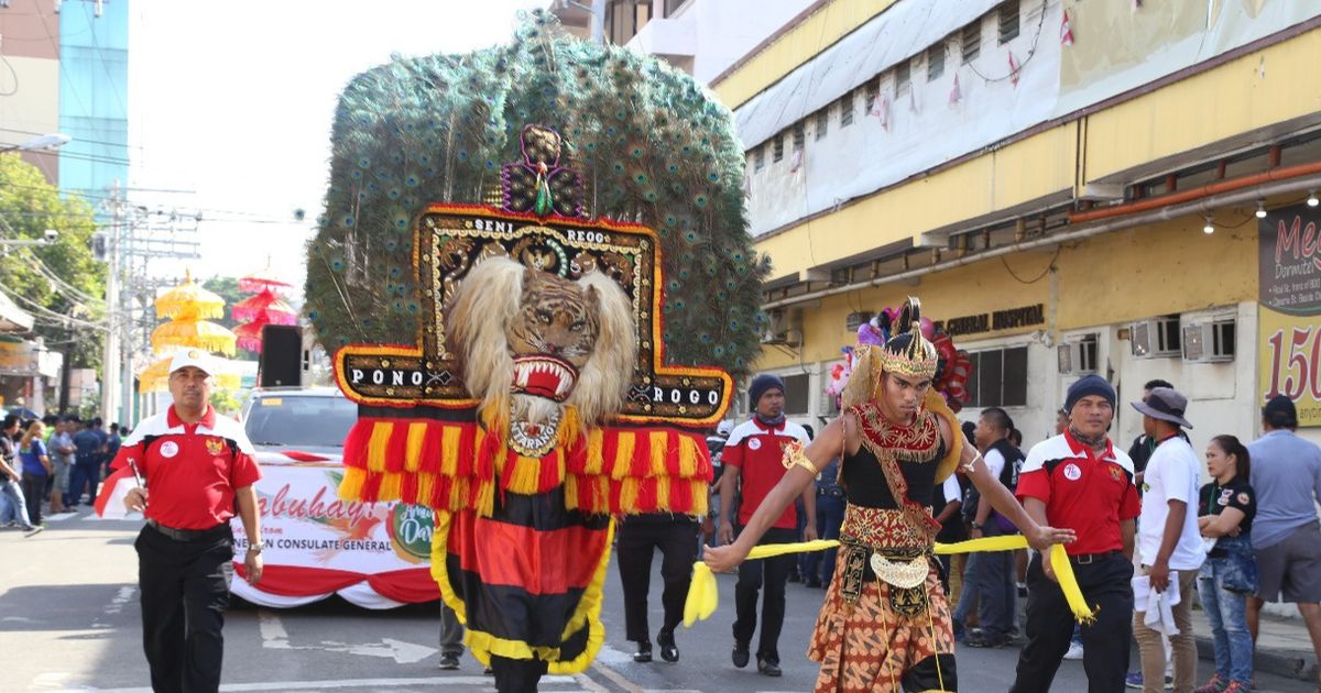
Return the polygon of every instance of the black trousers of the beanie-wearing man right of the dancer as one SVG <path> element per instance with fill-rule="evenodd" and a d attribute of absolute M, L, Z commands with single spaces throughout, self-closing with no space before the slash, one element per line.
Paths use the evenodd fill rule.
<path fill-rule="evenodd" d="M 1082 628 L 1083 671 L 1089 693 L 1120 693 L 1128 675 L 1133 638 L 1133 564 L 1115 552 L 1091 564 L 1074 562 L 1074 574 L 1096 620 Z M 1096 610 L 1099 605 L 1099 610 Z M 1018 656 L 1011 693 L 1048 693 L 1069 651 L 1074 619 L 1065 593 L 1041 570 L 1041 554 L 1028 566 L 1028 645 Z"/>

